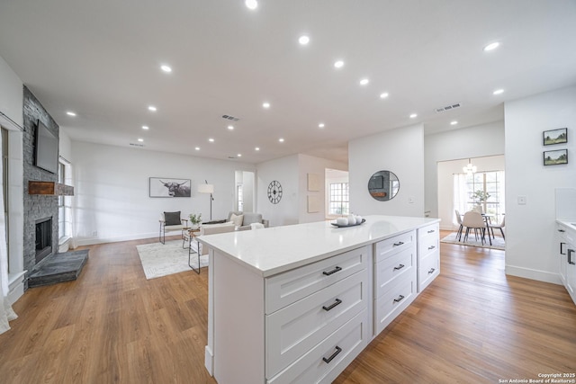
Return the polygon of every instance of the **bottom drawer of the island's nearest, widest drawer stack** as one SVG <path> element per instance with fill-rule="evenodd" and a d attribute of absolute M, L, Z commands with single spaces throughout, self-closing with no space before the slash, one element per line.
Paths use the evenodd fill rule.
<path fill-rule="evenodd" d="M 362 352 L 368 340 L 366 309 L 329 335 L 268 384 L 329 383 Z"/>

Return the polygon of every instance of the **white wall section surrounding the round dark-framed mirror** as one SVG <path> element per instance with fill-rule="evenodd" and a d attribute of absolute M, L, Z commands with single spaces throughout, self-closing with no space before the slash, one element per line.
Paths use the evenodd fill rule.
<path fill-rule="evenodd" d="M 348 165 L 351 211 L 362 216 L 424 217 L 422 124 L 350 141 Z M 391 201 L 376 201 L 368 193 L 368 180 L 381 170 L 392 171 L 400 180 L 400 191 Z"/>

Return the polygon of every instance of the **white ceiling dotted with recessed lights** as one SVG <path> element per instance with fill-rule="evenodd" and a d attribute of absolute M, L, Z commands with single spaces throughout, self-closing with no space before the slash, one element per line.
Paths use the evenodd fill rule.
<path fill-rule="evenodd" d="M 505 101 L 576 84 L 576 2 L 0 0 L 0 57 L 73 140 L 347 161 L 352 138 L 500 121 Z"/>

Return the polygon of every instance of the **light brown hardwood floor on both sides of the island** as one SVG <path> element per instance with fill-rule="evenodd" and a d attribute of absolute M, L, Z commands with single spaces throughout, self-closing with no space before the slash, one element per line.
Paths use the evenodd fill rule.
<path fill-rule="evenodd" d="M 91 246 L 77 281 L 26 291 L 0 335 L 0 382 L 215 383 L 203 367 L 206 270 L 147 281 L 136 246 L 154 241 Z M 506 276 L 502 251 L 442 244 L 436 281 L 335 382 L 572 372 L 576 306 L 562 286 Z"/>

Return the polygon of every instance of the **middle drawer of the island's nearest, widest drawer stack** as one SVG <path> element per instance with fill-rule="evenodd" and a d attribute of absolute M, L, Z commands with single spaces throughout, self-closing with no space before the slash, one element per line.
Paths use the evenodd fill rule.
<path fill-rule="evenodd" d="M 367 308 L 366 270 L 266 316 L 266 377 L 271 378 Z"/>

